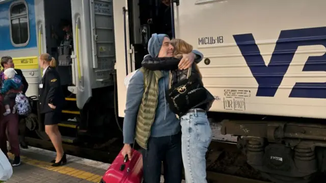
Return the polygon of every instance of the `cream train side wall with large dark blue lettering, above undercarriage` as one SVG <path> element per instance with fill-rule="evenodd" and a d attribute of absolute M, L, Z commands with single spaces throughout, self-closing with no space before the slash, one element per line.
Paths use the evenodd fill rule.
<path fill-rule="evenodd" d="M 180 0 L 176 37 L 204 54 L 199 66 L 215 96 L 211 111 L 326 118 L 325 6 Z"/>

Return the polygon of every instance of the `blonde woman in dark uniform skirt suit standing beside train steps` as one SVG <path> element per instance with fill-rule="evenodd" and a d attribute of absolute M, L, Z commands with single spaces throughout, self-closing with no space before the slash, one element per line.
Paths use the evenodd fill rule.
<path fill-rule="evenodd" d="M 55 69 L 56 59 L 49 54 L 42 54 L 39 57 L 39 64 L 43 68 L 43 77 L 39 84 L 40 113 L 44 114 L 45 132 L 57 151 L 57 157 L 52 161 L 52 166 L 60 166 L 67 163 L 58 127 L 65 97 L 59 73 Z"/>

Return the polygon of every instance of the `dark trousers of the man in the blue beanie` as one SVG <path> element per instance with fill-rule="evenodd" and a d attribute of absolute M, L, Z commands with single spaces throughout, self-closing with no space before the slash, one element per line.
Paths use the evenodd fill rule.
<path fill-rule="evenodd" d="M 165 183 L 182 181 L 181 133 L 174 136 L 150 137 L 148 149 L 142 149 L 144 182 L 159 183 L 161 163 Z"/>

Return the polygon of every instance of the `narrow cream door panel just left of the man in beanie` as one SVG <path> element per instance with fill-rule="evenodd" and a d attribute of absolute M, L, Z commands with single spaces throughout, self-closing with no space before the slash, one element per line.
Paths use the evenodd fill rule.
<path fill-rule="evenodd" d="M 128 16 L 128 1 L 114 1 L 114 32 L 116 45 L 116 64 L 117 70 L 117 93 L 118 93 L 118 108 L 119 116 L 124 117 L 124 109 L 126 103 L 127 88 L 124 85 L 124 79 L 131 72 L 131 54 L 130 38 L 129 38 L 129 16 Z"/>

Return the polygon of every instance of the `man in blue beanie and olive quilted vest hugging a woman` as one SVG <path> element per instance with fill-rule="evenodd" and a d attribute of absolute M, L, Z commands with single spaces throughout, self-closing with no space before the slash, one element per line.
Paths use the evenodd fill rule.
<path fill-rule="evenodd" d="M 173 50 L 167 35 L 153 34 L 148 43 L 149 56 L 145 57 L 171 57 Z M 183 55 L 179 69 L 187 69 L 202 59 L 203 55 L 193 50 Z M 122 155 L 131 159 L 131 144 L 135 141 L 144 149 L 145 183 L 160 182 L 161 162 L 165 182 L 182 180 L 181 126 L 165 98 L 168 84 L 168 71 L 141 68 L 131 77 L 127 89 Z"/>

